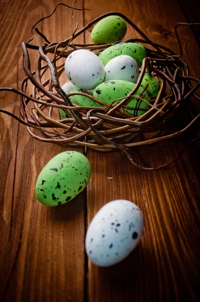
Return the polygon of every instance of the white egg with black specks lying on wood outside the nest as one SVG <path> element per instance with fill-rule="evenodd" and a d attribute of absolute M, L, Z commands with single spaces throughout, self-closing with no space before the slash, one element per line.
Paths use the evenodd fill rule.
<path fill-rule="evenodd" d="M 87 256 L 95 265 L 114 265 L 136 248 L 143 228 L 143 215 L 136 204 L 123 199 L 109 202 L 89 224 L 85 238 Z"/>

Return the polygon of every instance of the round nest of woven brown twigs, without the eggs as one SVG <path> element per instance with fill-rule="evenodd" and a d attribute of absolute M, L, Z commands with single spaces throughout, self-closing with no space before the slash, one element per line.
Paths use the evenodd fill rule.
<path fill-rule="evenodd" d="M 72 19 L 75 21 L 73 9 L 72 7 Z M 133 38 L 106 44 L 81 45 L 74 43 L 77 36 L 83 34 L 96 22 L 111 15 L 122 17 L 141 35 L 142 39 Z M 190 77 L 188 65 L 181 59 L 178 36 L 180 55 L 151 41 L 132 21 L 117 12 L 102 15 L 79 31 L 77 31 L 76 23 L 76 29 L 72 36 L 59 43 L 50 43 L 35 27 L 36 25 L 33 28 L 44 38 L 45 43 L 41 46 L 29 44 L 33 40 L 33 28 L 32 39 L 27 43 L 22 43 L 26 78 L 22 81 L 21 91 L 1 89 L 21 95 L 21 118 L 16 118 L 26 125 L 28 132 L 34 138 L 44 142 L 64 143 L 73 146 L 84 145 L 102 151 L 121 149 L 131 159 L 127 152 L 128 148 L 178 136 L 195 120 L 191 117 L 188 120 L 188 116 L 185 120 L 182 112 L 184 111 L 183 108 L 189 105 L 191 95 L 195 96 L 195 91 L 199 87 L 199 80 Z M 176 28 L 175 33 L 177 35 Z M 64 64 L 59 65 L 59 59 L 67 58 L 71 52 L 77 49 L 87 49 L 98 55 L 107 47 L 122 42 L 142 43 L 147 52 L 136 86 L 126 98 L 121 99 L 118 104 L 115 103 L 116 100 L 107 104 L 88 95 L 86 91 L 68 95 L 64 93 L 59 84 L 59 78 L 64 72 Z M 38 52 L 35 71 L 31 71 L 29 48 Z M 53 58 L 50 58 L 50 54 L 51 56 L 54 54 Z M 42 61 L 45 61 L 43 66 Z M 130 108 L 127 104 L 140 87 L 145 70 L 157 77 L 160 90 L 156 97 L 150 98 L 149 108 L 143 109 L 144 114 L 137 116 L 138 106 Z M 47 71 L 50 71 L 50 77 L 43 81 Z M 32 85 L 31 94 L 26 93 L 28 81 Z M 194 87 L 192 87 L 191 81 L 196 82 Z M 85 107 L 72 104 L 69 97 L 74 94 L 86 96 L 103 107 Z M 136 97 L 138 104 L 145 101 L 140 96 Z M 61 119 L 59 109 L 64 110 L 68 117 Z M 125 109 L 133 109 L 135 114 L 131 115 Z M 140 108 L 140 110 L 142 109 Z M 4 112 L 4 110 L 1 111 Z"/>

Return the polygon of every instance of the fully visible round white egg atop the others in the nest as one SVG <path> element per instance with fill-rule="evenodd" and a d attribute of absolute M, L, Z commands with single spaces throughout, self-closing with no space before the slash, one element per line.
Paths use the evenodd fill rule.
<path fill-rule="evenodd" d="M 98 56 L 86 49 L 73 51 L 65 61 L 65 73 L 79 89 L 93 89 L 105 78 L 104 64 Z"/>

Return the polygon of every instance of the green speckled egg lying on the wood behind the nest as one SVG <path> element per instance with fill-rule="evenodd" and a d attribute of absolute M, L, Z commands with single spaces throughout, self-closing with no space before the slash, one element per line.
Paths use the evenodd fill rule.
<path fill-rule="evenodd" d="M 93 43 L 111 43 L 124 38 L 127 25 L 124 19 L 118 16 L 109 16 L 99 21 L 91 32 Z"/>

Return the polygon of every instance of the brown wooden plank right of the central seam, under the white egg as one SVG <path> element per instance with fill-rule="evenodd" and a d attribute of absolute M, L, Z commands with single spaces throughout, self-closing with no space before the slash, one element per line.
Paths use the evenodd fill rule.
<path fill-rule="evenodd" d="M 176 1 L 85 2 L 85 24 L 109 11 L 130 18 L 150 39 L 178 51 L 173 28 L 185 22 Z M 200 77 L 199 49 L 189 28 L 179 36 L 183 58 L 191 74 Z M 129 27 L 125 38 L 138 37 Z M 86 43 L 91 42 L 90 32 Z M 188 55 L 189 54 L 189 55 Z M 189 58 L 189 59 L 188 59 Z M 135 147 L 134 160 L 144 166 L 164 164 L 192 138 L 198 123 L 173 141 Z M 144 172 L 120 152 L 88 150 L 92 177 L 87 190 L 88 225 L 95 213 L 114 199 L 128 199 L 143 211 L 145 230 L 139 247 L 123 262 L 99 268 L 88 261 L 88 299 L 113 301 L 197 301 L 199 233 L 197 200 L 200 197 L 199 143 L 191 145 L 166 169 Z M 112 179 L 108 179 L 112 177 Z"/>

